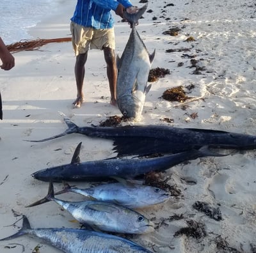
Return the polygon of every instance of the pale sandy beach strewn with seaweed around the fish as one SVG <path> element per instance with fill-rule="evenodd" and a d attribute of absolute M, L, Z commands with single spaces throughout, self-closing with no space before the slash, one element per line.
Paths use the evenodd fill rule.
<path fill-rule="evenodd" d="M 137 0 L 132 3 L 143 6 Z M 29 33 L 35 39 L 69 37 L 75 4 L 63 1 L 58 15 L 43 20 Z M 115 20 L 116 53 L 121 55 L 131 29 L 119 17 Z M 255 25 L 252 0 L 148 1 L 137 30 L 148 51 L 156 49 L 152 68 L 168 69 L 170 74 L 152 82 L 141 118 L 123 124 L 256 135 Z M 173 28 L 178 28 L 176 36 L 166 33 Z M 86 102 L 80 109 L 72 109 L 76 84 L 71 42 L 49 43 L 13 55 L 15 68 L 0 73 L 4 117 L 0 122 L 0 238 L 17 231 L 10 226 L 19 218 L 13 211 L 26 215 L 32 227 L 79 227 L 56 203 L 25 208 L 47 194 L 48 184 L 31 174 L 70 163 L 81 141 L 82 161 L 115 157 L 112 142 L 79 134 L 42 143 L 24 140 L 44 139 L 66 130 L 60 112 L 80 127 L 122 116 L 109 104 L 103 52 L 90 50 L 88 54 Z M 177 86 L 183 86 L 191 99 L 169 102 L 162 98 L 166 89 Z M 164 204 L 139 210 L 154 221 L 156 231 L 127 238 L 159 253 L 256 252 L 255 167 L 255 151 L 251 150 L 198 158 L 168 169 L 162 176 L 176 194 Z M 90 183 L 76 185 L 84 188 Z M 61 189 L 61 183 L 54 183 L 54 188 Z M 83 199 L 76 194 L 62 197 Z M 216 215 L 212 218 L 196 210 L 196 203 L 207 203 Z M 181 233 L 184 227 L 191 230 Z M 19 253 L 22 245 L 25 253 L 32 253 L 36 245 L 40 253 L 61 252 L 29 236 L 1 241 L 0 252 Z"/>

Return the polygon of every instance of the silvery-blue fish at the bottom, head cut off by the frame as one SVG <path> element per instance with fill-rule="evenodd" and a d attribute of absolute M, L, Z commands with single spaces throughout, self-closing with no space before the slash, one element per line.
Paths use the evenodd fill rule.
<path fill-rule="evenodd" d="M 150 250 L 141 247 L 133 241 L 111 234 L 87 231 L 84 229 L 58 227 L 32 229 L 25 215 L 23 215 L 21 229 L 17 233 L 3 238 L 0 241 L 12 240 L 24 234 L 41 238 L 66 253 L 152 253 Z"/>

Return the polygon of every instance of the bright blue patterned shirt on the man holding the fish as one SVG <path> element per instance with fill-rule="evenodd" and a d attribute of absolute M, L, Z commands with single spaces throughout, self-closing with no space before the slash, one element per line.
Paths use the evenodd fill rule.
<path fill-rule="evenodd" d="M 121 3 L 125 8 L 132 6 L 128 0 L 77 0 L 76 10 L 71 20 L 80 26 L 95 29 L 109 29 L 114 26 L 111 10 Z"/>

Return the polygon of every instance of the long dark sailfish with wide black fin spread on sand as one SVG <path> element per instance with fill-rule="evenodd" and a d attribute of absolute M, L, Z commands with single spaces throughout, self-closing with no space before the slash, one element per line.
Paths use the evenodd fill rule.
<path fill-rule="evenodd" d="M 62 134 L 31 141 L 44 142 L 67 134 L 83 134 L 88 137 L 100 137 L 114 141 L 114 150 L 118 156 L 149 155 L 155 153 L 179 153 L 202 146 L 235 150 L 253 150 L 256 148 L 256 136 L 237 134 L 219 130 L 196 128 L 177 128 L 164 125 L 139 125 L 124 127 L 77 127 L 65 118 L 68 129 Z"/>

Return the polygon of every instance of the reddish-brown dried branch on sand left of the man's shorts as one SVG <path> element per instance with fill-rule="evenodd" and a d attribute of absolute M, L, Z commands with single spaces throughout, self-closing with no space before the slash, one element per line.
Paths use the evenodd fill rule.
<path fill-rule="evenodd" d="M 38 50 L 40 47 L 47 43 L 54 42 L 71 42 L 72 38 L 54 38 L 54 39 L 36 39 L 36 40 L 20 40 L 20 42 L 15 42 L 7 45 L 7 49 L 10 52 L 20 52 L 23 50 Z"/>

